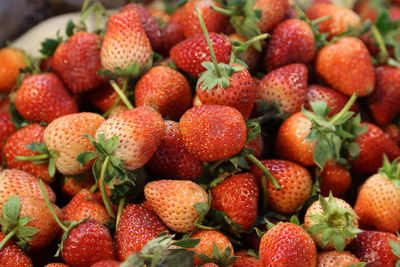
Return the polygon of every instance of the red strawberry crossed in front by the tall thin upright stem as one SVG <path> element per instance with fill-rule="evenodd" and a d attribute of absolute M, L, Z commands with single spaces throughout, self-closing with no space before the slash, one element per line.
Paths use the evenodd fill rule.
<path fill-rule="evenodd" d="M 218 63 L 228 63 L 231 57 L 231 41 L 218 33 L 210 33 L 210 41 Z M 171 48 L 170 57 L 179 69 L 199 78 L 205 71 L 203 62 L 211 61 L 210 50 L 203 34 L 186 39 Z"/>

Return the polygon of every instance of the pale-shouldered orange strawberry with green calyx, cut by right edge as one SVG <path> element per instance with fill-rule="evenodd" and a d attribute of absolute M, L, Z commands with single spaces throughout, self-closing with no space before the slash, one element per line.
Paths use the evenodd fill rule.
<path fill-rule="evenodd" d="M 354 210 L 360 217 L 360 225 L 379 231 L 395 233 L 400 230 L 398 187 L 400 169 L 398 160 L 390 164 L 387 157 L 377 174 L 369 177 L 359 188 Z"/>

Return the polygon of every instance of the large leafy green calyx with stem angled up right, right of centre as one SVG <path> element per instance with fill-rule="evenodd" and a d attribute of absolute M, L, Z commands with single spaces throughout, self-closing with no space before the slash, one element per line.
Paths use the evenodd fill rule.
<path fill-rule="evenodd" d="M 360 148 L 355 138 L 365 133 L 367 126 L 360 126 L 361 116 L 354 116 L 354 112 L 349 111 L 356 98 L 354 93 L 343 109 L 332 117 L 328 117 L 330 108 L 323 101 L 311 103 L 313 112 L 302 108 L 303 114 L 312 123 L 311 132 L 306 139 L 316 142 L 314 162 L 320 169 L 330 159 L 348 167 L 348 158 L 355 159 L 358 156 Z"/>

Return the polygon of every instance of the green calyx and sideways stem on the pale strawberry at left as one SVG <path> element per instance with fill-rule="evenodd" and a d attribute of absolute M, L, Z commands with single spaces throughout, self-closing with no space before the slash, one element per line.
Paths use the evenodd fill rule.
<path fill-rule="evenodd" d="M 20 161 L 32 161 L 35 164 L 49 164 L 48 170 L 50 177 L 54 177 L 56 173 L 55 159 L 57 158 L 57 152 L 54 149 L 48 149 L 44 143 L 30 143 L 25 145 L 32 151 L 39 153 L 36 156 L 16 156 L 16 160 Z"/>

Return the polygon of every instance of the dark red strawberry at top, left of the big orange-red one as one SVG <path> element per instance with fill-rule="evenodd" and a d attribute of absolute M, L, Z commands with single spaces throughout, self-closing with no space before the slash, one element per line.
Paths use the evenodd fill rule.
<path fill-rule="evenodd" d="M 315 37 L 311 27 L 299 19 L 279 23 L 272 32 L 265 57 L 265 69 L 291 63 L 310 63 L 316 52 Z"/>

